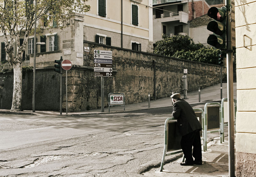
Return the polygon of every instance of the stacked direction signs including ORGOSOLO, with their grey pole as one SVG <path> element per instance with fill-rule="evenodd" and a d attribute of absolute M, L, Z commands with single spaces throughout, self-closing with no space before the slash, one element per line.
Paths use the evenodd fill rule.
<path fill-rule="evenodd" d="M 112 51 L 94 50 L 94 76 L 101 77 L 101 112 L 104 112 L 104 78 L 112 77 Z"/>

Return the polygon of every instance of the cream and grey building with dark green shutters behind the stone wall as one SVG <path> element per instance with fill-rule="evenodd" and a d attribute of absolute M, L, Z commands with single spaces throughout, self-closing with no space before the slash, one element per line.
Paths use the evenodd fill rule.
<path fill-rule="evenodd" d="M 84 41 L 153 53 L 152 0 L 93 0 L 86 4 L 91 10 L 68 14 L 70 19 L 61 24 L 64 29 L 52 21 L 54 28 L 50 32 L 43 26 L 36 39 L 31 35 L 23 60 L 29 60 L 29 66 L 33 66 L 36 52 L 36 67 L 53 66 L 60 56 L 83 66 Z M 21 32 L 20 42 L 24 34 Z M 1 63 L 6 57 L 3 41 L 0 34 Z M 34 50 L 34 42 L 45 42 L 45 45 L 36 45 Z"/>

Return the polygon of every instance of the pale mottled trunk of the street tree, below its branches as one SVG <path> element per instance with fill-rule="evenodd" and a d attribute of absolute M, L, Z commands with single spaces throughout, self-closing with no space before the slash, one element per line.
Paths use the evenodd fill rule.
<path fill-rule="evenodd" d="M 22 63 L 13 64 L 13 96 L 11 111 L 22 111 L 21 108 Z"/>

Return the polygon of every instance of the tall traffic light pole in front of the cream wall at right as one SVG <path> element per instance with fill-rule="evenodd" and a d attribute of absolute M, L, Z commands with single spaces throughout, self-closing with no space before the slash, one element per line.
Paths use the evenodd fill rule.
<path fill-rule="evenodd" d="M 231 41 L 231 0 L 226 0 L 227 7 L 227 75 L 228 75 L 228 174 L 235 177 L 235 141 L 234 141 L 234 88 L 233 88 L 233 60 Z"/>

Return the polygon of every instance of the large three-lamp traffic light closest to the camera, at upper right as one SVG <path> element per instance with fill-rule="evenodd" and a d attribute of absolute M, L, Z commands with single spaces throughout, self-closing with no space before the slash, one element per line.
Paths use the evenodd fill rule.
<path fill-rule="evenodd" d="M 211 7 L 207 13 L 209 17 L 214 19 L 207 25 L 207 30 L 213 32 L 213 34 L 208 37 L 207 44 L 217 49 L 226 49 L 226 13 L 226 7 Z"/>

